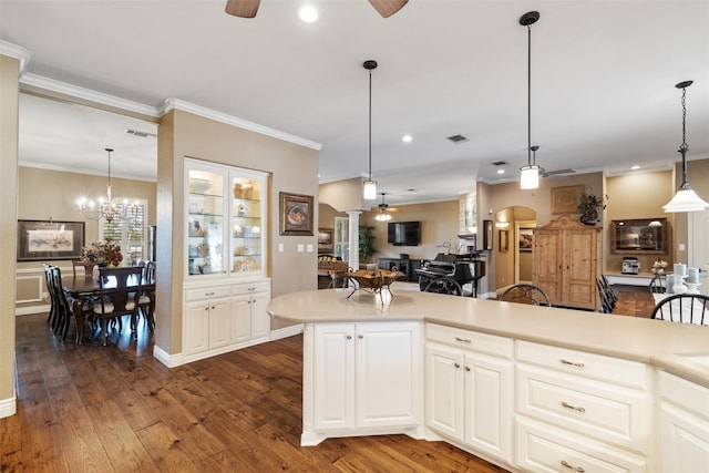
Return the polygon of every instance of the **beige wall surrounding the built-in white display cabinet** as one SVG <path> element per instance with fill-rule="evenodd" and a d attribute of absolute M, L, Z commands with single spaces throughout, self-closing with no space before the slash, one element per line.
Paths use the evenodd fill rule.
<path fill-rule="evenodd" d="M 318 205 L 318 152 L 259 133 L 183 111 L 168 112 L 161 122 L 157 161 L 157 227 L 173 228 L 161 238 L 157 268 L 156 345 L 167 353 L 182 351 L 182 287 L 184 278 L 184 158 L 186 156 L 270 173 L 268 205 L 268 276 L 273 296 L 317 288 L 317 232 L 312 236 L 279 235 L 279 192 L 311 195 Z M 316 207 L 317 208 L 317 207 Z M 314 228 L 318 228 L 317 216 Z M 278 245 L 284 251 L 278 251 Z M 297 253 L 298 244 L 314 253 Z M 162 249 L 161 249 L 162 246 Z M 173 263 L 178 261 L 178 263 Z M 271 321 L 277 329 L 284 323 Z"/>

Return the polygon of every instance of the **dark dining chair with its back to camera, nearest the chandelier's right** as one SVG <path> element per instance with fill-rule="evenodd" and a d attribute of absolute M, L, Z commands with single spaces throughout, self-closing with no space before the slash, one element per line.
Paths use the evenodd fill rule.
<path fill-rule="evenodd" d="M 99 317 L 104 347 L 109 341 L 109 320 L 119 321 L 119 332 L 124 316 L 131 317 L 131 327 L 135 326 L 142 279 L 141 266 L 99 268 L 100 298 L 93 304 L 93 313 Z"/>

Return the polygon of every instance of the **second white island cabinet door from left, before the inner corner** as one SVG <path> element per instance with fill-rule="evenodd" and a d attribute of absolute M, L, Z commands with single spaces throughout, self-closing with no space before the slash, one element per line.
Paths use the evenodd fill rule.
<path fill-rule="evenodd" d="M 357 325 L 357 426 L 417 423 L 418 327 L 401 322 Z"/>

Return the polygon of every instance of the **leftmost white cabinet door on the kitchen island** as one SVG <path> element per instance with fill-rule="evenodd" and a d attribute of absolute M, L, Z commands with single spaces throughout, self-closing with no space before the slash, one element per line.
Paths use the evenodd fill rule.
<path fill-rule="evenodd" d="M 354 426 L 354 325 L 315 327 L 315 428 Z"/>

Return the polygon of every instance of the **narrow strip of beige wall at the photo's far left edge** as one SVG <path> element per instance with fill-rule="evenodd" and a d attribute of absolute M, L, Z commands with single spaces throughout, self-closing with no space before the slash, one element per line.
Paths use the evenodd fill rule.
<path fill-rule="evenodd" d="M 0 54 L 0 417 L 14 414 L 14 273 L 18 219 L 18 60 Z"/>

